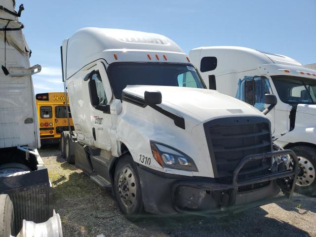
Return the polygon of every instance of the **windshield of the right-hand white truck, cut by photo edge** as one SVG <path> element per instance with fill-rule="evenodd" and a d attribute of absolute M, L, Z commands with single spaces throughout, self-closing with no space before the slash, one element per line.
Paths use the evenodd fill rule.
<path fill-rule="evenodd" d="M 316 80 L 291 76 L 273 76 L 280 100 L 287 104 L 315 104 Z"/>

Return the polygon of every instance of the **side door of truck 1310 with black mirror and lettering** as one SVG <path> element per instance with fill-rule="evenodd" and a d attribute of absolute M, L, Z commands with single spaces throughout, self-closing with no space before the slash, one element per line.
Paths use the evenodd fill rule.
<path fill-rule="evenodd" d="M 112 118 L 110 114 L 110 102 L 112 90 L 102 63 L 98 63 L 88 75 L 88 88 L 90 95 L 90 120 L 97 148 L 111 151 L 111 127 Z"/>

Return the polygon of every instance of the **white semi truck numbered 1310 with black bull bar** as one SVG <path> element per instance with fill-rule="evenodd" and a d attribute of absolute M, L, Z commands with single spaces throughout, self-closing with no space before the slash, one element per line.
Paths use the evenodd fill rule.
<path fill-rule="evenodd" d="M 172 40 L 84 28 L 61 54 L 75 127 L 62 133 L 62 153 L 112 190 L 127 217 L 227 215 L 291 196 L 298 160 L 273 151 L 269 119 L 206 89 Z"/>

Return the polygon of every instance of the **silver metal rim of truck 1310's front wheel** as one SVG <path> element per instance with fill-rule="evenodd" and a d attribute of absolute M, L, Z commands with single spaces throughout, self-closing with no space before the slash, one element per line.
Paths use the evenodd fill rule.
<path fill-rule="evenodd" d="M 126 207 L 131 207 L 136 200 L 136 182 L 131 169 L 124 167 L 118 178 L 118 195 Z"/>

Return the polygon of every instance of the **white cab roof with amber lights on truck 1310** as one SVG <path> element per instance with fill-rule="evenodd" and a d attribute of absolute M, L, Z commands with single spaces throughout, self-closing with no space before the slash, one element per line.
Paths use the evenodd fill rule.
<path fill-rule="evenodd" d="M 67 78 L 100 58 L 108 64 L 122 61 L 154 62 L 155 54 L 158 53 L 159 62 L 188 63 L 184 51 L 173 40 L 140 31 L 96 27 L 80 29 L 63 42 L 63 61 L 66 62 L 64 47 L 67 47 Z M 151 58 L 147 56 L 148 53 L 151 53 Z M 166 56 L 167 60 L 163 61 L 163 54 L 170 57 Z"/>

